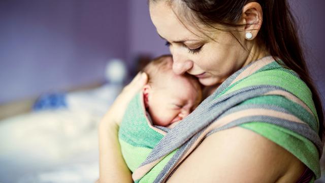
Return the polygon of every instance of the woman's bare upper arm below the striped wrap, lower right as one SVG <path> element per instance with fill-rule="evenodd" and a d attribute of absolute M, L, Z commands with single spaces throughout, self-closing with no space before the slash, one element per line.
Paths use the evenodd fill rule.
<path fill-rule="evenodd" d="M 305 168 L 281 146 L 235 127 L 207 137 L 168 182 L 296 182 Z"/>

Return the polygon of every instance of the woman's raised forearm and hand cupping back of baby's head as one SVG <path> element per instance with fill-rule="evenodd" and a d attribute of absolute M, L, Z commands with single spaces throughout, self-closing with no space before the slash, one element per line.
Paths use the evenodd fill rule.
<path fill-rule="evenodd" d="M 100 179 L 106 182 L 133 182 L 131 172 L 127 168 L 120 151 L 118 128 L 125 109 L 131 99 L 147 83 L 145 73 L 138 74 L 133 81 L 124 87 L 99 126 L 100 147 Z"/>

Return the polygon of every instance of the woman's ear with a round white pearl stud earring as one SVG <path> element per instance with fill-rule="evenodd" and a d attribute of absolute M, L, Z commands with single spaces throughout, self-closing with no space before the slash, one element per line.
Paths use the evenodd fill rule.
<path fill-rule="evenodd" d="M 252 40 L 257 36 L 263 22 L 263 11 L 261 5 L 256 2 L 248 3 L 244 6 L 241 23 L 246 24 L 244 27 L 244 37 Z"/>

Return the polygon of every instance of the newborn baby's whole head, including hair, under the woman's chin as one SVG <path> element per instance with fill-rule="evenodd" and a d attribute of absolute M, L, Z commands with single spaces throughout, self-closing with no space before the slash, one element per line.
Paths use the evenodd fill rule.
<path fill-rule="evenodd" d="M 197 78 L 176 75 L 171 55 L 155 58 L 145 68 L 148 84 L 143 88 L 144 103 L 153 125 L 169 126 L 186 117 L 201 102 L 202 91 Z"/>

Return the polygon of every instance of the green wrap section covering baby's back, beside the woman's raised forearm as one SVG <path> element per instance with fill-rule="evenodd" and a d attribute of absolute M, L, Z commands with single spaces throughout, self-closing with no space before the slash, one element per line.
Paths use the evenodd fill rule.
<path fill-rule="evenodd" d="M 138 93 L 129 103 L 118 133 L 123 158 L 132 172 L 140 166 L 151 149 L 163 138 L 163 134 L 153 128 L 146 117 L 143 95 Z"/>

